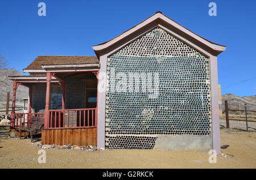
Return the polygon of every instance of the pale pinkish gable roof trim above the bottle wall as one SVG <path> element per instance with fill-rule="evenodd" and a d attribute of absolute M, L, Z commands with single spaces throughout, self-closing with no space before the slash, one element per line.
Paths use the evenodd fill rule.
<path fill-rule="evenodd" d="M 226 49 L 226 46 L 216 44 L 216 43 L 211 42 L 199 35 L 196 35 L 196 33 L 189 31 L 187 28 L 176 23 L 174 20 L 172 20 L 171 18 L 168 18 L 168 16 L 166 16 L 166 15 L 162 14 L 162 12 L 158 11 L 155 14 L 151 15 L 149 18 L 143 20 L 143 22 L 141 22 L 141 23 L 135 25 L 134 27 L 128 29 L 127 31 L 121 33 L 117 37 L 114 37 L 112 40 L 92 46 L 93 50 L 96 53 L 97 57 L 100 58 L 100 52 L 104 51 L 105 49 L 110 48 L 110 46 L 113 46 L 117 42 L 120 42 L 127 36 L 130 36 L 132 33 L 138 32 L 143 27 L 146 27 L 147 25 L 154 23 L 156 21 L 159 21 L 159 20 L 161 20 L 164 23 L 167 23 L 168 25 L 171 25 L 171 27 L 174 27 L 176 29 L 176 31 L 185 33 L 185 35 L 190 36 L 195 41 L 201 42 L 201 44 L 204 44 L 208 48 L 212 49 L 213 52 L 216 52 L 216 54 L 220 54 L 221 52 L 223 52 Z"/>

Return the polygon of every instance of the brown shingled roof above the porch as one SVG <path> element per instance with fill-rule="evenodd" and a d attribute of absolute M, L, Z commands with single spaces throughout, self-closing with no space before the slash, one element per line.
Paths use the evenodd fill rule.
<path fill-rule="evenodd" d="M 39 55 L 24 70 L 41 70 L 42 65 L 84 65 L 99 63 L 96 56 Z"/>

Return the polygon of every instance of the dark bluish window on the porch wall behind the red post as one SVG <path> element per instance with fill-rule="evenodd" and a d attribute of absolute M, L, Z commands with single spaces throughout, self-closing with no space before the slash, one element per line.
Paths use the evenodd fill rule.
<path fill-rule="evenodd" d="M 51 85 L 50 109 L 62 109 L 62 89 L 58 85 Z"/>

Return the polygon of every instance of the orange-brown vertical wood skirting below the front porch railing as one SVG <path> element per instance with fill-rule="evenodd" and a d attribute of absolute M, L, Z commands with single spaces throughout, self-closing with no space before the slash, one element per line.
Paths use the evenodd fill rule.
<path fill-rule="evenodd" d="M 42 130 L 42 144 L 97 145 L 97 127 Z"/>

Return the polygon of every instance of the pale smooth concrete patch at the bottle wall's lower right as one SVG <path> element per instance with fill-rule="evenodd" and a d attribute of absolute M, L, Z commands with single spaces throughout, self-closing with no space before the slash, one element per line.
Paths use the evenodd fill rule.
<path fill-rule="evenodd" d="M 159 135 L 154 149 L 209 152 L 212 149 L 212 139 L 210 135 Z"/>

